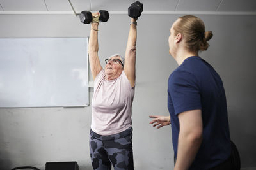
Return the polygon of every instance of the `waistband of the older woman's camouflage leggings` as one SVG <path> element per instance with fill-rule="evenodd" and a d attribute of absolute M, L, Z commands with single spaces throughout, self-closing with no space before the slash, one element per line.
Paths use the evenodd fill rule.
<path fill-rule="evenodd" d="M 111 135 L 106 135 L 106 136 L 97 134 L 97 133 L 93 132 L 92 129 L 90 130 L 90 136 L 92 136 L 93 138 L 96 138 L 100 141 L 113 141 L 115 139 L 124 138 L 129 135 L 132 135 L 132 127 L 129 127 L 125 131 L 122 131 L 118 134 L 111 134 Z"/>

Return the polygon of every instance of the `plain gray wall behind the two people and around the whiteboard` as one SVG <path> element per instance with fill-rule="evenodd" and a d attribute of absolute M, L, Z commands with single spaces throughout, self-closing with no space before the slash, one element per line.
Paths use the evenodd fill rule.
<path fill-rule="evenodd" d="M 167 80 L 177 67 L 168 54 L 168 36 L 178 15 L 143 15 L 138 20 L 136 94 L 132 106 L 136 169 L 172 169 L 170 127 L 154 129 L 148 115 L 168 115 Z M 213 31 L 200 55 L 216 68 L 225 85 L 232 140 L 242 167 L 256 167 L 256 15 L 198 15 Z M 124 55 L 130 18 L 111 15 L 99 27 L 99 56 Z M 0 37 L 89 36 L 90 25 L 74 15 L 0 15 Z M 92 81 L 92 77 L 90 76 Z M 90 101 L 93 89 L 90 89 Z M 92 169 L 88 149 L 91 107 L 1 108 L 0 169 L 76 160 Z"/>

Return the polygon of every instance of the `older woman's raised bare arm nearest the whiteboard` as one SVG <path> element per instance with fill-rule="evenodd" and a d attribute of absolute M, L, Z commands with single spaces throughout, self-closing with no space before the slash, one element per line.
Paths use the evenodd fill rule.
<path fill-rule="evenodd" d="M 89 62 L 90 62 L 93 80 L 95 80 L 95 77 L 102 70 L 102 66 L 100 66 L 100 60 L 99 60 L 99 56 L 98 56 L 98 51 L 99 51 L 98 31 L 97 31 L 98 26 L 99 26 L 99 23 L 97 23 L 97 22 L 92 23 L 90 38 L 89 38 L 89 45 L 88 45 Z"/>

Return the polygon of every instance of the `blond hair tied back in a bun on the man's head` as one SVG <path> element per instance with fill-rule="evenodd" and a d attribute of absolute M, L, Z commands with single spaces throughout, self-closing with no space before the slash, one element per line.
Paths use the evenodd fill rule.
<path fill-rule="evenodd" d="M 209 47 L 212 31 L 205 32 L 204 22 L 193 15 L 179 17 L 179 22 L 174 25 L 175 35 L 181 33 L 185 39 L 185 46 L 189 51 L 205 51 Z"/>

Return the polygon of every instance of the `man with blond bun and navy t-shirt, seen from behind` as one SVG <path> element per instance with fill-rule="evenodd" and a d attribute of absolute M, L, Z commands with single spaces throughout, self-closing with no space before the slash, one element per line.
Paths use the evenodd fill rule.
<path fill-rule="evenodd" d="M 154 126 L 172 125 L 175 170 L 231 170 L 231 141 L 225 90 L 214 68 L 198 56 L 212 32 L 186 15 L 170 29 L 169 53 L 179 67 L 168 80 L 170 117 L 150 116 Z"/>

